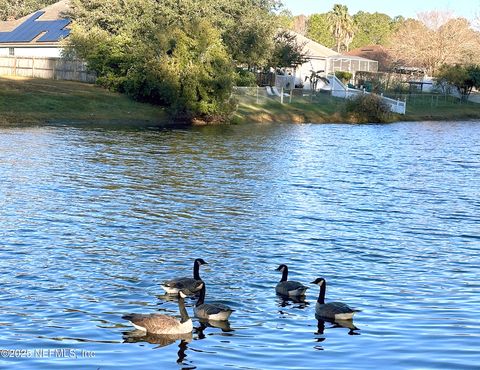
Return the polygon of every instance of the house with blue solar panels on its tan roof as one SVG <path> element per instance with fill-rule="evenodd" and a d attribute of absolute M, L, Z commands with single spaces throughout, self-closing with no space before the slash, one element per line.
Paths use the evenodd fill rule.
<path fill-rule="evenodd" d="M 62 0 L 23 18 L 0 22 L 0 57 L 59 58 L 69 36 L 69 1 Z"/>

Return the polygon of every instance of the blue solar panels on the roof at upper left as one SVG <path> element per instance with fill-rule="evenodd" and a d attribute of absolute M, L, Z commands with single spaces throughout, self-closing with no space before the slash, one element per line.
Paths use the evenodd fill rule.
<path fill-rule="evenodd" d="M 70 19 L 39 21 L 38 18 L 44 13 L 36 12 L 11 32 L 0 32 L 0 43 L 32 42 L 44 32 L 45 34 L 37 42 L 56 42 L 70 34 L 70 30 L 65 29 L 70 24 Z"/>

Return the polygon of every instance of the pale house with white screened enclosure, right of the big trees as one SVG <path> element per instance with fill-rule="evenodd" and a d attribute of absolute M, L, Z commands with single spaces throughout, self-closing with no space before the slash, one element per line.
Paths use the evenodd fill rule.
<path fill-rule="evenodd" d="M 376 60 L 354 55 L 343 55 L 297 32 L 289 32 L 295 35 L 297 44 L 303 45 L 303 52 L 308 58 L 306 63 L 297 66 L 293 71 L 296 85 L 301 82 L 308 88 L 308 83 L 305 83 L 305 79 L 312 74 L 312 71 L 323 71 L 325 75 L 336 71 L 344 71 L 351 72 L 354 76 L 358 71 L 378 71 L 378 62 Z"/>

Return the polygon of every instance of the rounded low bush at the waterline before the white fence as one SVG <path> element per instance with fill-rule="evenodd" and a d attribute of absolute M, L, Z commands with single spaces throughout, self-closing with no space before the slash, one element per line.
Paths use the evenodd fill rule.
<path fill-rule="evenodd" d="M 389 122 L 392 117 L 389 105 L 375 94 L 362 94 L 348 99 L 345 110 L 362 123 Z"/>

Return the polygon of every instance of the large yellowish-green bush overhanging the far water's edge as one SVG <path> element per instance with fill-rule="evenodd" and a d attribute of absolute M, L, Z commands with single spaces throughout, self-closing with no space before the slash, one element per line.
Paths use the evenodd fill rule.
<path fill-rule="evenodd" d="M 207 21 L 164 26 L 148 35 L 76 29 L 71 42 L 97 83 L 166 108 L 178 121 L 227 121 L 234 65 L 220 32 Z"/>

